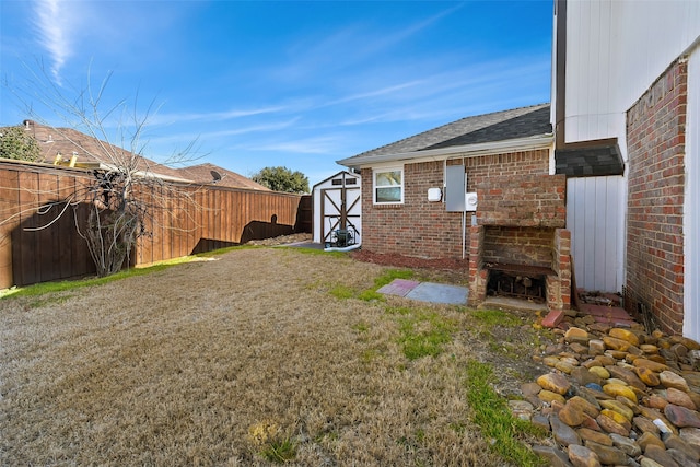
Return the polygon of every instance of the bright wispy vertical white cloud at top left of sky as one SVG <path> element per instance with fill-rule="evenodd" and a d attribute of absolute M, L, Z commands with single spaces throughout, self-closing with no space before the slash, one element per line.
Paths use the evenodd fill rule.
<path fill-rule="evenodd" d="M 61 0 L 36 0 L 33 4 L 40 45 L 50 56 L 51 75 L 60 83 L 60 71 L 72 55 L 70 21 Z"/>

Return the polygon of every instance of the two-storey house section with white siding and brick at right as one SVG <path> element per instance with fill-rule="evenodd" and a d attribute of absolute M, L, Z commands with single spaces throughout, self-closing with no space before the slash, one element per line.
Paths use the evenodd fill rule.
<path fill-rule="evenodd" d="M 700 2 L 555 7 L 555 159 L 576 283 L 700 339 Z"/>

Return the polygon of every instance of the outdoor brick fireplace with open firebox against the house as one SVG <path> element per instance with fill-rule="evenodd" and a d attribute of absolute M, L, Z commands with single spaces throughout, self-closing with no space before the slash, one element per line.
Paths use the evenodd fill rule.
<path fill-rule="evenodd" d="M 469 304 L 489 295 L 571 306 L 571 233 L 564 175 L 489 177 L 469 232 Z"/>

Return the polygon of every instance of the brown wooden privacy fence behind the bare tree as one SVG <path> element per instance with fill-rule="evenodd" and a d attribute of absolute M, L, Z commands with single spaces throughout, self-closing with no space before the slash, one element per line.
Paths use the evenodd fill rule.
<path fill-rule="evenodd" d="M 93 180 L 91 171 L 0 162 L 0 289 L 94 273 L 73 208 L 56 203 Z M 138 196 L 154 208 L 132 265 L 312 229 L 310 196 L 170 183 Z M 77 209 L 86 218 L 86 205 Z"/>

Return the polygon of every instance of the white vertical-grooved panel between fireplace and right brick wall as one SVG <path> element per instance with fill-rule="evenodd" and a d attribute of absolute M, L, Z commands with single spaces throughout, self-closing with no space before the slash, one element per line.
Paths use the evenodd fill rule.
<path fill-rule="evenodd" d="M 621 292 L 625 265 L 625 178 L 567 180 L 567 229 L 576 287 Z"/>

